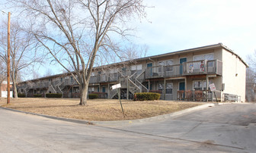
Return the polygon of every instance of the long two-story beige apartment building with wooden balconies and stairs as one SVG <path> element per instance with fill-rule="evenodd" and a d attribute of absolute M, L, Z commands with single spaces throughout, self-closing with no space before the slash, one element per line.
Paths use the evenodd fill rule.
<path fill-rule="evenodd" d="M 246 67 L 242 58 L 219 43 L 94 67 L 88 92 L 117 98 L 117 89 L 110 87 L 120 83 L 122 98 L 133 98 L 135 92 L 159 92 L 165 100 L 245 101 Z M 209 88 L 213 83 L 214 93 Z M 18 91 L 27 96 L 47 92 L 60 92 L 67 98 L 79 95 L 69 73 L 19 83 Z"/>

